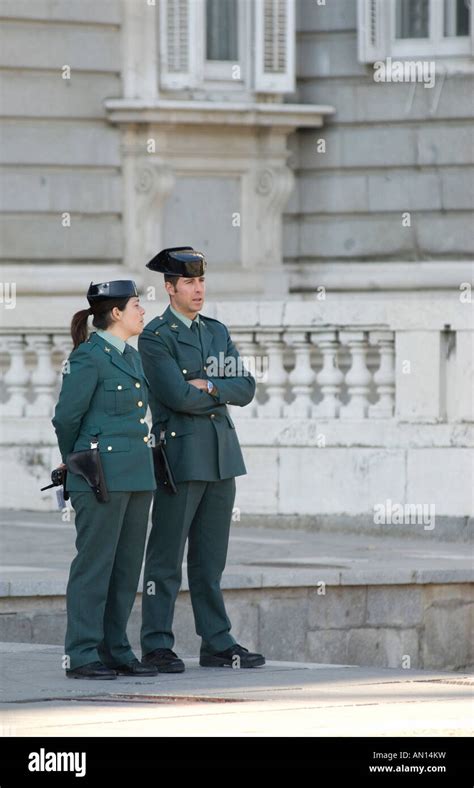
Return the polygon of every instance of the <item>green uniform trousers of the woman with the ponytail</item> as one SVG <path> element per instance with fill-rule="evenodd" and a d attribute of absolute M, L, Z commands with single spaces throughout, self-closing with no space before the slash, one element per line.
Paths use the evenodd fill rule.
<path fill-rule="evenodd" d="M 145 550 L 152 492 L 71 492 L 76 549 L 66 590 L 65 654 L 70 668 L 135 658 L 127 638 Z"/>

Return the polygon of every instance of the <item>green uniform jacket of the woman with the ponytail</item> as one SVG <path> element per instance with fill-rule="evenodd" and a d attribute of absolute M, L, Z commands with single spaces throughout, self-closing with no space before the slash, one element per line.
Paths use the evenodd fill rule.
<path fill-rule="evenodd" d="M 70 452 L 89 449 L 98 435 L 110 492 L 156 488 L 145 421 L 148 381 L 140 354 L 130 349 L 134 369 L 96 333 L 73 350 L 52 419 L 63 462 Z M 69 472 L 66 489 L 90 491 L 84 479 Z"/>

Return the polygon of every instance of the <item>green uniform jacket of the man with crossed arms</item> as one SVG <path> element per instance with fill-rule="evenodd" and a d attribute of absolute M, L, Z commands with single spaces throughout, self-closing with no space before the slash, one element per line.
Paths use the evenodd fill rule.
<path fill-rule="evenodd" d="M 169 307 L 145 326 L 138 340 L 150 381 L 152 432 L 158 438 L 160 429 L 166 430 L 166 454 L 177 482 L 247 473 L 227 405 L 251 402 L 255 379 L 239 370 L 242 362 L 226 326 L 209 317 L 200 321 L 202 348 L 198 336 Z M 213 359 L 223 362 L 223 369 L 214 368 L 216 375 L 208 374 Z M 218 396 L 187 382 L 194 378 L 212 380 Z"/>

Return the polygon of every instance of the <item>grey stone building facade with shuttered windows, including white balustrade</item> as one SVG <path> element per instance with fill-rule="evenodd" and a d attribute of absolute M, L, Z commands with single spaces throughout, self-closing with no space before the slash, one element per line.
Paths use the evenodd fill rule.
<path fill-rule="evenodd" d="M 165 298 L 144 263 L 189 243 L 205 312 L 262 362 L 235 414 L 242 512 L 472 517 L 471 17 L 457 0 L 1 0 L 4 505 L 54 506 L 38 490 L 89 282 L 134 278 L 151 319 Z"/>

